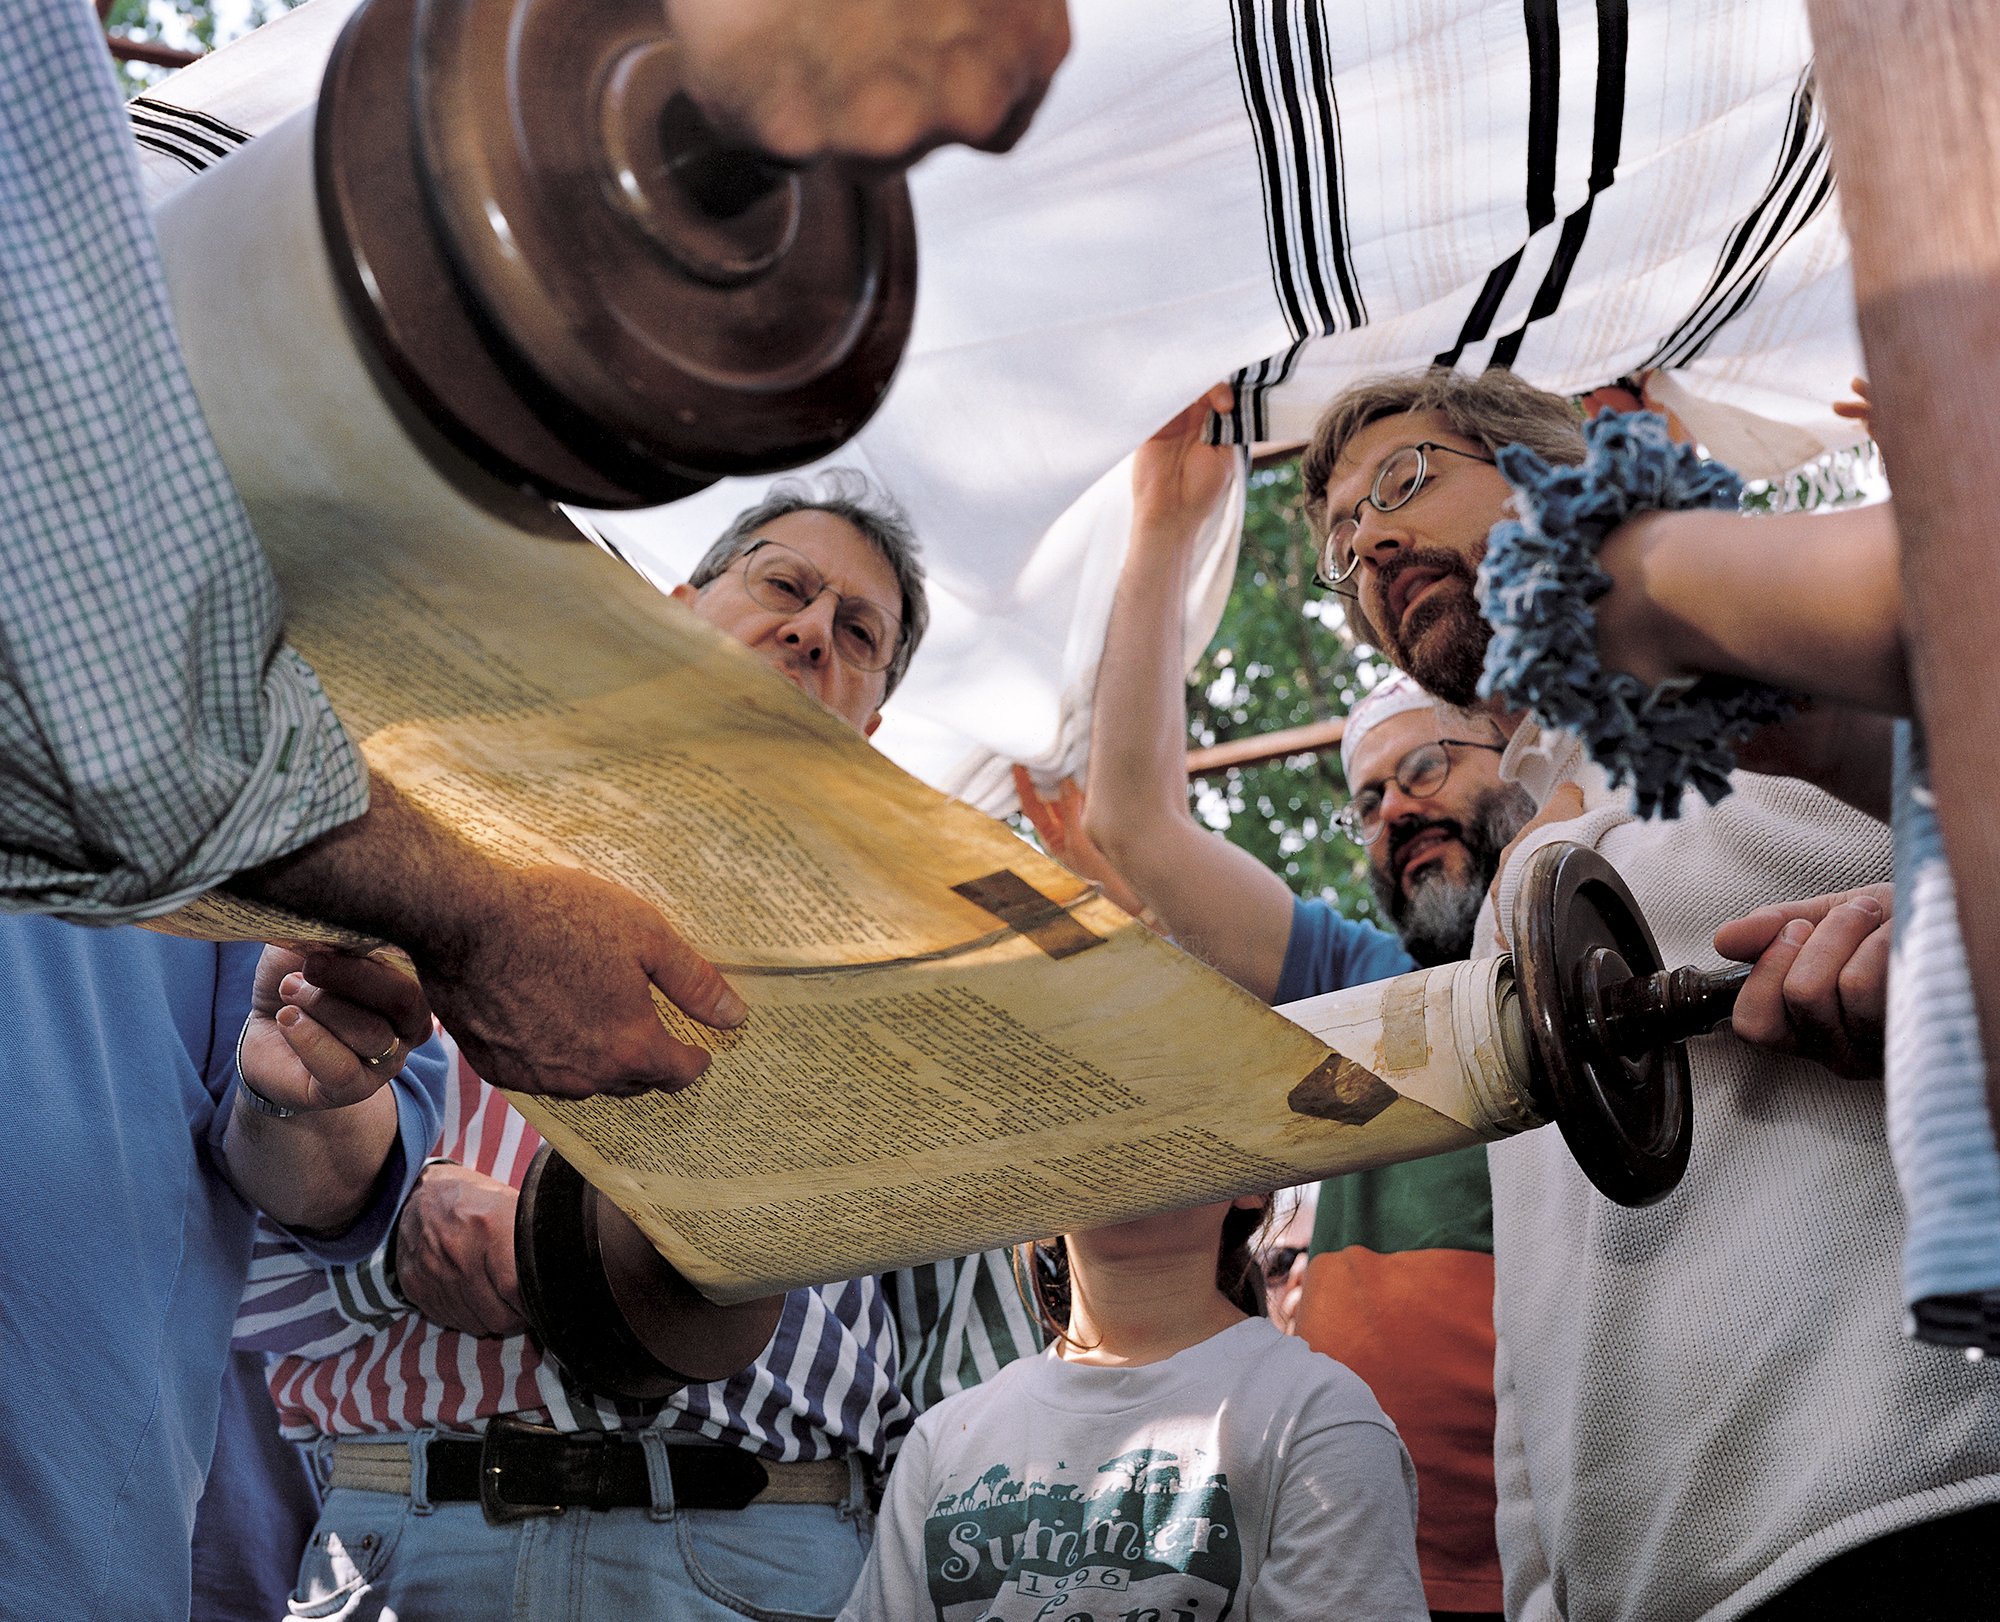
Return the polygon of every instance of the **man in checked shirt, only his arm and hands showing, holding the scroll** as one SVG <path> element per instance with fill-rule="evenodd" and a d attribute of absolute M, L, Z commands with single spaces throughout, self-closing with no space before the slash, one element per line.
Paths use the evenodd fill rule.
<path fill-rule="evenodd" d="M 864 0 L 840 28 L 782 0 L 668 10 L 690 90 L 798 158 L 1004 150 L 1068 48 L 1062 0 Z M 528 1092 L 694 1080 L 654 986 L 742 1020 L 622 888 L 506 872 L 384 784 L 370 802 L 282 642 L 78 4 L 0 0 L 0 910 L 132 922 L 232 882 L 404 946 L 482 1074 Z"/>

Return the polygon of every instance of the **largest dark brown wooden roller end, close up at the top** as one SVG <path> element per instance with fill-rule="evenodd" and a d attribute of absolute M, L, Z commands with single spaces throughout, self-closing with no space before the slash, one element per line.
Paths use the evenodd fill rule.
<path fill-rule="evenodd" d="M 368 0 L 316 164 L 364 348 L 466 486 L 624 508 L 798 466 L 908 340 L 902 180 L 720 142 L 658 0 Z"/>

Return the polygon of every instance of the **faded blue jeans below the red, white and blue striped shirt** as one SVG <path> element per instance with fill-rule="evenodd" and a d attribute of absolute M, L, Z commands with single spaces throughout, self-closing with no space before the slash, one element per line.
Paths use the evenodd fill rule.
<path fill-rule="evenodd" d="M 416 1438 L 418 1446 L 424 1438 Z M 656 1470 L 658 1492 L 666 1472 Z M 856 1464 L 844 1504 L 566 1510 L 488 1526 L 478 1504 L 336 1488 L 290 1616 L 338 1622 L 764 1622 L 832 1618 L 874 1516 Z"/>

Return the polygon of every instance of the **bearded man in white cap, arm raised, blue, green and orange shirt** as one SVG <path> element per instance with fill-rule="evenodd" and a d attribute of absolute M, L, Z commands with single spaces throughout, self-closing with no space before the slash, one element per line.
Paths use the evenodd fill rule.
<path fill-rule="evenodd" d="M 1188 812 L 1184 576 L 1234 454 L 1202 444 L 1204 416 L 1192 406 L 1134 464 L 1132 544 L 1098 670 L 1088 840 L 1174 940 L 1270 1002 L 1462 958 L 1500 846 L 1534 810 L 1500 784 L 1506 740 L 1484 716 L 1440 718 L 1408 676 L 1348 716 L 1348 826 L 1400 944 L 1294 898 Z M 1064 854 L 1090 860 L 1074 840 Z M 1312 1252 L 1298 1332 L 1368 1380 L 1410 1448 L 1432 1612 L 1498 1614 L 1484 1150 L 1326 1182 Z"/>

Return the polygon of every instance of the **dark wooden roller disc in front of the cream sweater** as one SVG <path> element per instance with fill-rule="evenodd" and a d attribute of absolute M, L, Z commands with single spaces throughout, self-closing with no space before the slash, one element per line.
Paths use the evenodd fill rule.
<path fill-rule="evenodd" d="M 1694 1146 L 1686 1038 L 1716 1022 L 1712 988 L 1682 980 L 1676 990 L 1662 968 L 1610 862 L 1580 844 L 1534 852 L 1514 900 L 1530 1094 L 1584 1176 L 1622 1206 L 1666 1198 L 1686 1172 Z"/>

